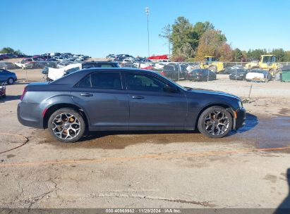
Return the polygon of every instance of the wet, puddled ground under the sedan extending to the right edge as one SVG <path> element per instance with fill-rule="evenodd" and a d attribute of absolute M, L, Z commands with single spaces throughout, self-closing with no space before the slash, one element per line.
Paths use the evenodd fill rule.
<path fill-rule="evenodd" d="M 188 142 L 188 144 L 194 145 L 195 143 L 241 142 L 253 145 L 257 149 L 265 149 L 290 146 L 289 127 L 289 116 L 279 115 L 266 118 L 265 116 L 256 117 L 248 113 L 246 125 L 237 131 L 230 132 L 229 136 L 222 139 L 208 138 L 199 132 L 92 132 L 87 137 L 83 137 L 81 141 L 66 144 L 54 140 L 47 132 L 42 131 L 44 139 L 40 143 L 67 148 L 124 149 L 126 146 L 143 143 Z"/>

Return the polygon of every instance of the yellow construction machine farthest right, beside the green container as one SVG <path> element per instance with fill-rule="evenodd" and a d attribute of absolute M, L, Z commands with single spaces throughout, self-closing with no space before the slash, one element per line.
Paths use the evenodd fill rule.
<path fill-rule="evenodd" d="M 268 70 L 272 75 L 279 72 L 282 68 L 282 64 L 276 63 L 276 56 L 267 54 L 261 55 L 260 61 L 253 61 L 245 65 L 248 69 L 260 68 L 262 70 Z"/>

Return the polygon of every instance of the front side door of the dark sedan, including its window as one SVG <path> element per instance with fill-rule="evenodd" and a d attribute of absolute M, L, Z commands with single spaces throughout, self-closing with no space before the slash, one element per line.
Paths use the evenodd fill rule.
<path fill-rule="evenodd" d="M 171 82 L 149 73 L 123 73 L 130 106 L 129 130 L 183 130 L 186 95 Z"/>

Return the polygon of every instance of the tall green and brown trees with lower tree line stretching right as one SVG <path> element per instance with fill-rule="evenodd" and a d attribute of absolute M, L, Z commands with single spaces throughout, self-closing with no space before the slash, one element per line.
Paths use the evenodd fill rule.
<path fill-rule="evenodd" d="M 215 56 L 219 61 L 258 61 L 262 54 L 276 55 L 278 62 L 290 61 L 290 51 L 284 49 L 232 49 L 226 35 L 212 23 L 193 25 L 183 16 L 176 18 L 173 25 L 163 27 L 159 37 L 167 39 L 172 61 L 203 61 L 205 56 Z"/>

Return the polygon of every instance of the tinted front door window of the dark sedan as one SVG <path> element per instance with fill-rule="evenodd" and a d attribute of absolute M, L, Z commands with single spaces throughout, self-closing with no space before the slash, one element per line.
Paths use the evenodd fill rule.
<path fill-rule="evenodd" d="M 127 73 L 126 83 L 129 90 L 163 92 L 167 83 L 146 74 Z"/>

